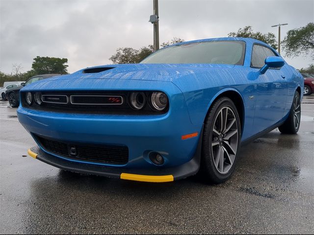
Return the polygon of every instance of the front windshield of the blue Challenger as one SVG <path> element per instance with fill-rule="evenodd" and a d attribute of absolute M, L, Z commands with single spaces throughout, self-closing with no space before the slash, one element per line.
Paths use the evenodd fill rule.
<path fill-rule="evenodd" d="M 209 41 L 166 47 L 140 63 L 243 65 L 244 55 L 243 41 Z"/>

